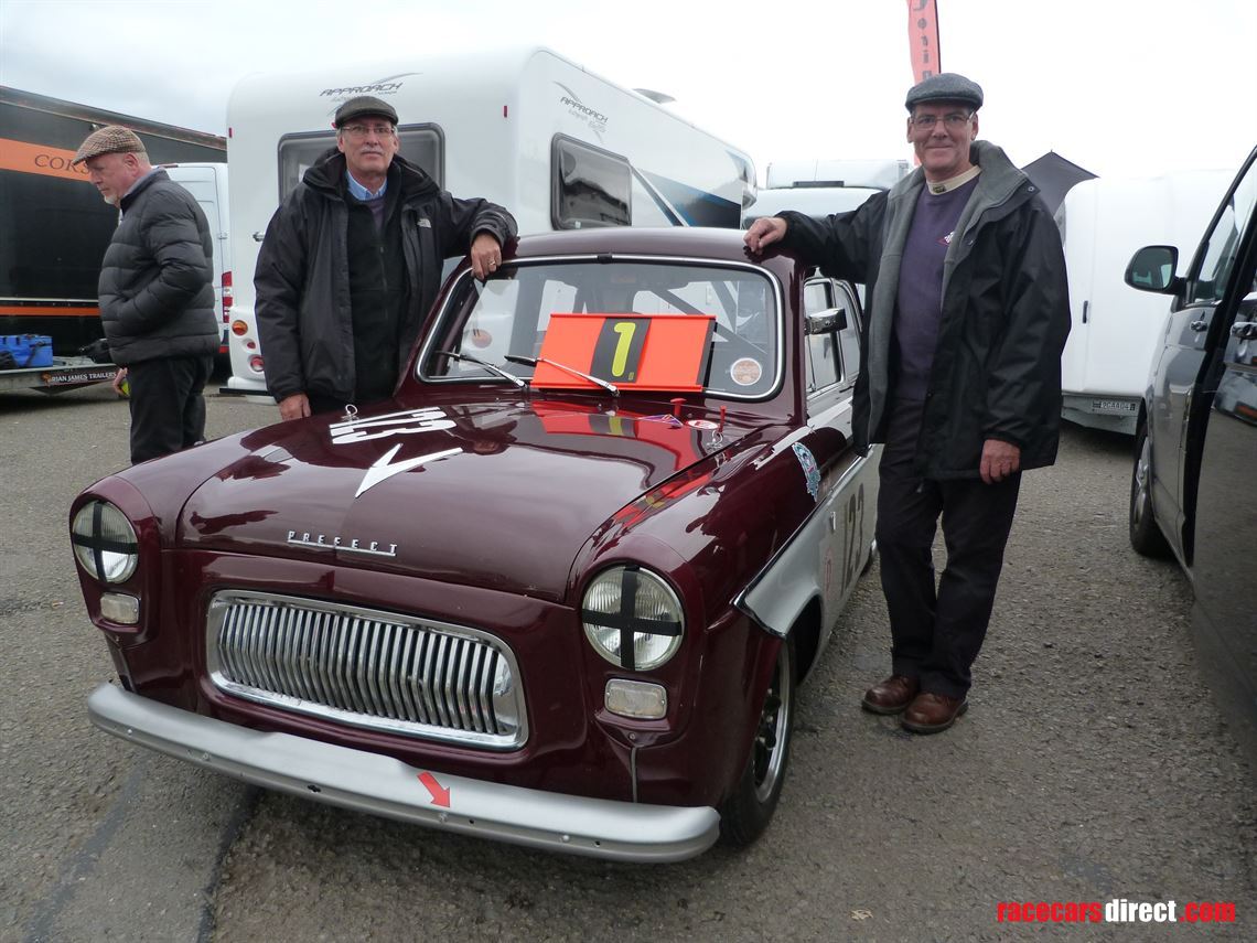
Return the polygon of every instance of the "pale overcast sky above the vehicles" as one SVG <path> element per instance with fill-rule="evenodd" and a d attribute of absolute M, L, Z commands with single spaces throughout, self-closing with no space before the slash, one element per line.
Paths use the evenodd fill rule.
<path fill-rule="evenodd" d="M 1257 143 L 1253 0 L 938 6 L 943 68 L 983 85 L 980 137 L 1017 163 L 1234 168 Z M 0 84 L 220 135 L 249 73 L 508 43 L 674 96 L 760 177 L 909 153 L 906 0 L 0 0 Z"/>

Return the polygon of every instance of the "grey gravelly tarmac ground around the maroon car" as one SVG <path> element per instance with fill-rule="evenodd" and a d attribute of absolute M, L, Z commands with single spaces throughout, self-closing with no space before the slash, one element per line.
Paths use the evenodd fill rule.
<path fill-rule="evenodd" d="M 210 401 L 214 434 L 273 415 Z M 889 665 L 874 567 L 801 692 L 767 835 L 657 866 L 327 808 L 92 729 L 111 665 L 65 509 L 124 439 L 103 391 L 0 396 L 0 940 L 1004 940 L 1035 930 L 999 902 L 1115 898 L 1233 902 L 1238 922 L 1075 933 L 1257 939 L 1257 780 L 1200 675 L 1187 580 L 1126 542 L 1129 439 L 1066 426 L 1026 477 L 955 728 L 859 709 Z"/>

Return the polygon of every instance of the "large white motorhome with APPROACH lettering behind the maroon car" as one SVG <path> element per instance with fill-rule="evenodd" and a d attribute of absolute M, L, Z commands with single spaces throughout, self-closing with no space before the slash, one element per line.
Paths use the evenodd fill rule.
<path fill-rule="evenodd" d="M 225 392 L 265 392 L 253 272 L 279 202 L 336 146 L 337 107 L 382 98 L 401 155 L 455 196 L 514 214 L 520 234 L 606 225 L 735 229 L 754 197 L 743 151 L 637 92 L 538 47 L 298 75 L 253 75 L 228 104 L 238 270 Z"/>

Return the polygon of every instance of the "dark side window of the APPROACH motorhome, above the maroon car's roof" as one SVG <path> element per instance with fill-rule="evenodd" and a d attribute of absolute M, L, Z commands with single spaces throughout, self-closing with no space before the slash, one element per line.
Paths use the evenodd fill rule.
<path fill-rule="evenodd" d="M 631 168 L 622 157 L 578 141 L 554 138 L 553 223 L 556 229 L 627 226 Z"/>

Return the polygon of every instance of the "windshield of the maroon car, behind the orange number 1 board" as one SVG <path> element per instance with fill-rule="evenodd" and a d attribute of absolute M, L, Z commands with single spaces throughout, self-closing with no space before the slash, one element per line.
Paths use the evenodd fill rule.
<path fill-rule="evenodd" d="M 583 259 L 507 265 L 485 283 L 464 275 L 445 304 L 420 373 L 425 380 L 505 382 L 471 360 L 440 355 L 449 351 L 529 378 L 533 367 L 507 356 L 542 356 L 551 314 L 558 313 L 709 316 L 715 329 L 706 391 L 759 399 L 777 387 L 781 317 L 773 282 L 750 268 L 694 263 Z M 564 366 L 616 380 L 610 372 L 602 376 L 588 358 Z"/>

